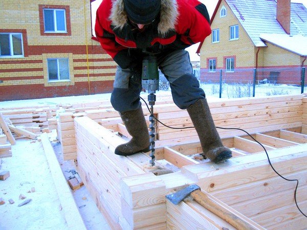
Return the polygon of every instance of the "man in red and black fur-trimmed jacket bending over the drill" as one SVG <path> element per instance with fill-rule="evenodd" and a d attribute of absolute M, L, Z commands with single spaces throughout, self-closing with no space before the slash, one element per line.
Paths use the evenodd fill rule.
<path fill-rule="evenodd" d="M 102 48 L 118 64 L 111 103 L 133 136 L 119 145 L 115 154 L 149 151 L 139 99 L 145 50 L 157 54 L 173 101 L 187 109 L 206 157 L 220 163 L 232 156 L 216 131 L 205 93 L 192 75 L 190 58 L 184 50 L 211 33 L 205 5 L 196 0 L 103 0 L 97 10 L 95 32 Z"/>

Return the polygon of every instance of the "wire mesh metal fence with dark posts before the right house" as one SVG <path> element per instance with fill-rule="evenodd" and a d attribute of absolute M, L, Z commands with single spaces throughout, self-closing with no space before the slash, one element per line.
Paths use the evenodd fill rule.
<path fill-rule="evenodd" d="M 220 98 L 301 94 L 307 91 L 305 67 L 249 68 L 233 72 L 202 69 L 199 80 L 207 96 Z"/>

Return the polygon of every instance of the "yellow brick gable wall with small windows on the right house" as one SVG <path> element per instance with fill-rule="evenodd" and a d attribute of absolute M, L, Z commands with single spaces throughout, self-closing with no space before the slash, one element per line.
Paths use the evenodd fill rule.
<path fill-rule="evenodd" d="M 227 10 L 226 17 L 220 17 L 220 10 L 224 6 Z M 229 27 L 239 26 L 238 40 L 229 40 Z M 255 66 L 254 44 L 239 24 L 227 3 L 222 0 L 220 7 L 214 17 L 211 29 L 220 29 L 220 42 L 212 43 L 211 35 L 207 37 L 201 48 L 201 68 L 208 68 L 207 58 L 216 57 L 216 68 L 224 68 L 224 57 L 236 55 L 236 66 Z"/>

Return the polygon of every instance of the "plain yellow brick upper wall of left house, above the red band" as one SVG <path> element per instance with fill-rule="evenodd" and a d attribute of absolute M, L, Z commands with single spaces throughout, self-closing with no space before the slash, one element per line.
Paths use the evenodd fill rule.
<path fill-rule="evenodd" d="M 29 45 L 85 44 L 85 18 L 87 42 L 91 43 L 90 1 L 85 0 L 85 12 L 84 0 L 1 0 L 1 2 L 1 29 L 27 29 Z M 70 6 L 72 36 L 40 36 L 38 5 Z"/>

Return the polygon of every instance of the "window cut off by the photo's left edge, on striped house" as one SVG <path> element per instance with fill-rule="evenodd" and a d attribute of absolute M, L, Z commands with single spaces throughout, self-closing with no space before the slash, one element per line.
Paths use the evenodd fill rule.
<path fill-rule="evenodd" d="M 24 57 L 23 34 L 0 33 L 0 57 Z"/>

